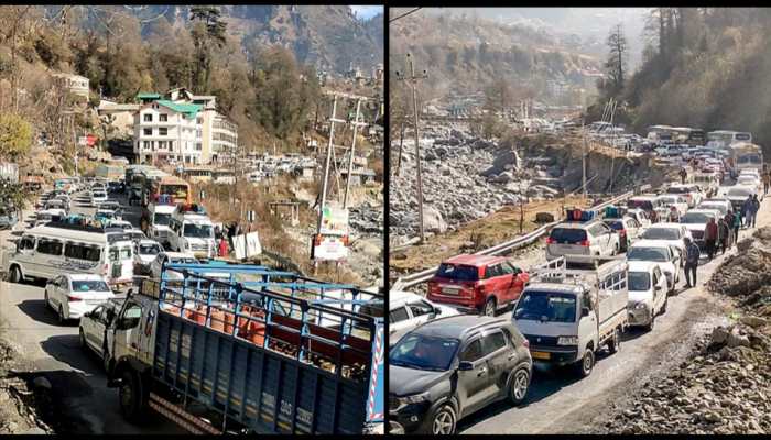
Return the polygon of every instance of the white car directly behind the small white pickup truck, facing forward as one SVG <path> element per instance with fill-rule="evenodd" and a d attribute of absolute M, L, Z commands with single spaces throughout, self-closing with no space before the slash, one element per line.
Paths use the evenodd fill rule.
<path fill-rule="evenodd" d="M 627 312 L 630 326 L 643 326 L 649 331 L 653 330 L 655 317 L 666 311 L 669 298 L 666 283 L 666 276 L 662 273 L 659 263 L 629 262 Z"/>

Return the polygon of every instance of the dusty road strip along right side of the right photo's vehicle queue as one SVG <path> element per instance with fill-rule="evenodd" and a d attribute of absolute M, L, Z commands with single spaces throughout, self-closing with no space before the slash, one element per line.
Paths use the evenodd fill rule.
<path fill-rule="evenodd" d="M 771 201 L 761 204 L 758 226 L 771 224 Z M 740 239 L 753 230 L 741 230 Z M 736 252 L 736 248 L 726 256 Z M 524 406 L 512 408 L 506 402 L 491 405 L 460 420 L 461 433 L 571 433 L 600 419 L 613 398 L 641 386 L 649 377 L 687 355 L 689 340 L 723 322 L 713 296 L 703 285 L 724 256 L 702 260 L 697 287 L 684 290 L 684 277 L 667 309 L 660 315 L 651 332 L 631 329 L 622 338 L 621 350 L 599 355 L 594 372 L 578 381 L 564 369 L 536 365 Z M 511 314 L 506 317 L 510 318 Z"/>

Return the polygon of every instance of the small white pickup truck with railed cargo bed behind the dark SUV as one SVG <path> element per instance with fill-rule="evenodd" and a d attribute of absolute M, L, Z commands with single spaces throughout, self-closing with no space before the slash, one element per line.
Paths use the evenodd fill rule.
<path fill-rule="evenodd" d="M 629 326 L 629 288 L 623 257 L 580 257 L 594 268 L 567 270 L 564 257 L 531 268 L 511 319 L 533 361 L 573 365 L 586 377 L 601 348 L 619 349 Z"/>

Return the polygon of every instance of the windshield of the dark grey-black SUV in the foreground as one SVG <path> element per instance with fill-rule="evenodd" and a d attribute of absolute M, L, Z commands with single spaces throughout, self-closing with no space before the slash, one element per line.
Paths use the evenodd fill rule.
<path fill-rule="evenodd" d="M 449 370 L 459 341 L 450 338 L 408 333 L 390 350 L 389 363 L 415 370 Z"/>

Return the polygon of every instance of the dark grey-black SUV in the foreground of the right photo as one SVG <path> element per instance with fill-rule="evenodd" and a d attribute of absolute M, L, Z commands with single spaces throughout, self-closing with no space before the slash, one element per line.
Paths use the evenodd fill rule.
<path fill-rule="evenodd" d="M 461 315 L 424 323 L 389 350 L 391 433 L 454 433 L 458 420 L 524 402 L 533 362 L 511 320 Z"/>

